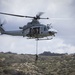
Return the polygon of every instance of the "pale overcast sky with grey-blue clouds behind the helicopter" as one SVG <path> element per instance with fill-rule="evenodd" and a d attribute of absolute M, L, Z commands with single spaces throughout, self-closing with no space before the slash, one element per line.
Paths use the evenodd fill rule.
<path fill-rule="evenodd" d="M 45 12 L 40 20 L 50 24 L 58 31 L 56 37 L 48 41 L 39 41 L 38 53 L 51 51 L 55 53 L 75 53 L 75 0 L 0 0 L 0 12 L 35 16 Z M 26 25 L 31 19 L 0 15 L 6 20 L 5 30 L 16 30 Z M 36 41 L 21 36 L 0 35 L 0 52 L 35 54 Z"/>

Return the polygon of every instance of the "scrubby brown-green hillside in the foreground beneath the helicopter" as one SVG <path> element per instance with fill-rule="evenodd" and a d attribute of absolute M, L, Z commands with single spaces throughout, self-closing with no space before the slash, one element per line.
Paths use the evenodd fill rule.
<path fill-rule="evenodd" d="M 75 75 L 75 54 L 42 56 L 0 53 L 0 75 Z"/>

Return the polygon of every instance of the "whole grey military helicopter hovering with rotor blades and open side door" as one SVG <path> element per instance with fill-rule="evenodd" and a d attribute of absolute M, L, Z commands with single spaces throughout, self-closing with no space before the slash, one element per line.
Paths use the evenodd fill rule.
<path fill-rule="evenodd" d="M 23 36 L 23 37 L 28 37 L 30 39 L 39 39 L 39 38 L 44 38 L 48 36 L 55 36 L 55 34 L 57 33 L 57 31 L 51 27 L 51 24 L 44 25 L 39 22 L 40 19 L 49 19 L 49 18 L 40 17 L 43 14 L 43 12 L 38 13 L 34 17 L 9 14 L 9 13 L 3 13 L 3 12 L 0 12 L 0 14 L 16 16 L 16 17 L 32 18 L 31 22 L 28 22 L 27 25 L 24 25 L 23 27 L 19 27 L 19 30 L 15 30 L 15 31 L 4 30 L 3 23 L 1 23 L 0 24 L 1 34 Z"/>

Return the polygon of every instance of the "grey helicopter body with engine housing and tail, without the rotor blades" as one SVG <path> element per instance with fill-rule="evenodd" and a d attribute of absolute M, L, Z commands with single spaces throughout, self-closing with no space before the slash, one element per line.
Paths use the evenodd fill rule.
<path fill-rule="evenodd" d="M 56 31 L 49 28 L 47 25 L 40 24 L 39 21 L 33 20 L 28 22 L 27 25 L 20 27 L 19 30 L 5 31 L 2 26 L 0 26 L 1 34 L 7 34 L 12 36 L 23 36 L 31 38 L 43 38 L 47 36 L 55 36 Z"/>

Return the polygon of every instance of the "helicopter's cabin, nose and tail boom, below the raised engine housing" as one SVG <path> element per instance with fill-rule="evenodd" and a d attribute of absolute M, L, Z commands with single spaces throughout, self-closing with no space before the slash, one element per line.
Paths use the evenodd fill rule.
<path fill-rule="evenodd" d="M 55 36 L 55 32 L 47 29 L 46 26 L 33 26 L 26 30 L 14 30 L 14 31 L 5 31 L 2 34 L 12 35 L 12 36 L 27 36 L 32 38 L 43 38 L 47 36 Z"/>

